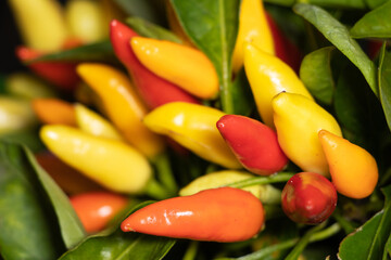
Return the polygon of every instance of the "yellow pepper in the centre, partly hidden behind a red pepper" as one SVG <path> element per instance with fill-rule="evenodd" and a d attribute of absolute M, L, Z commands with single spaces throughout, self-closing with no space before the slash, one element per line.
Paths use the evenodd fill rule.
<path fill-rule="evenodd" d="M 227 168 L 241 168 L 216 128 L 217 120 L 224 115 L 213 107 L 172 102 L 150 112 L 143 122 L 205 160 Z"/>

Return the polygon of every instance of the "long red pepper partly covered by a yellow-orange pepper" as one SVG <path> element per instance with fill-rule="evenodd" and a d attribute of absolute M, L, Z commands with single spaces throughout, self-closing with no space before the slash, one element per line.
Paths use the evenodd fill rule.
<path fill-rule="evenodd" d="M 172 82 L 144 67 L 129 44 L 138 36 L 133 29 L 114 20 L 110 24 L 110 39 L 118 60 L 126 66 L 135 87 L 150 109 L 165 103 L 184 101 L 199 104 L 200 101 Z"/>

